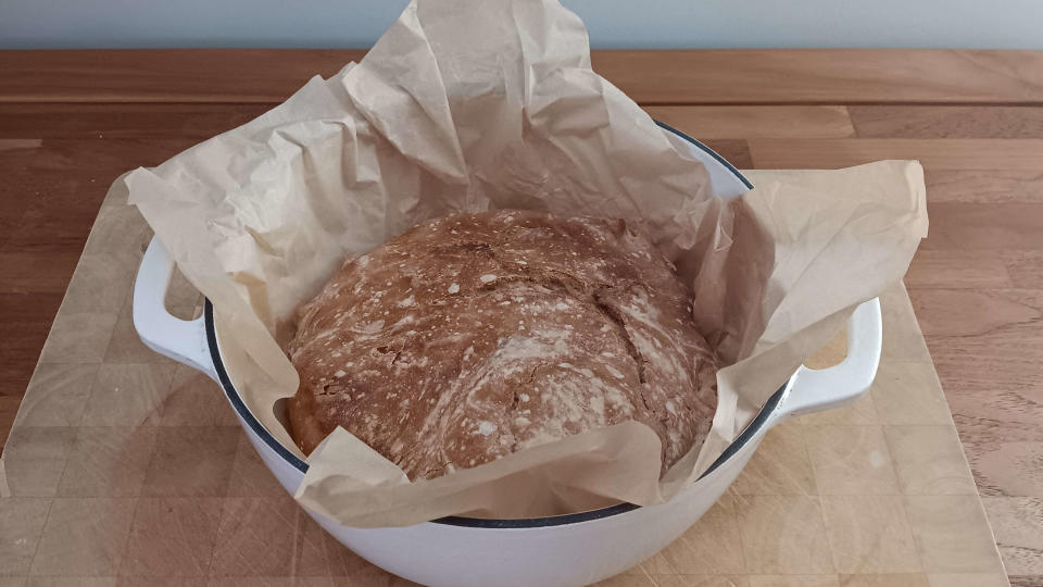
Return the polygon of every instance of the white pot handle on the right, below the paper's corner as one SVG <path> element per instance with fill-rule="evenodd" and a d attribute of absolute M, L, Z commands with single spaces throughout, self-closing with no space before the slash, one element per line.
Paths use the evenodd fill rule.
<path fill-rule="evenodd" d="M 858 399 L 877 376 L 882 344 L 880 299 L 874 298 L 858 305 L 847 321 L 847 358 L 822 370 L 801 365 L 782 399 L 780 415 L 820 412 Z"/>

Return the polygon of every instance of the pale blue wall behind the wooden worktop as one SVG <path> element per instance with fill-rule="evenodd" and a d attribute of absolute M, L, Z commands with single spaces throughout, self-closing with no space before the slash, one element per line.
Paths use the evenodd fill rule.
<path fill-rule="evenodd" d="M 1043 0 L 564 0 L 594 48 L 1043 49 Z M 367 47 L 406 0 L 0 0 L 0 48 Z M 1000 7 L 1000 8 L 993 8 Z"/>

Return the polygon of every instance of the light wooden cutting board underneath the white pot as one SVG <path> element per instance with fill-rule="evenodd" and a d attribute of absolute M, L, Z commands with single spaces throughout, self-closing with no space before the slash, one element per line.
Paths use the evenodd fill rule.
<path fill-rule="evenodd" d="M 409 584 L 297 507 L 216 384 L 138 340 L 150 238 L 102 205 L 0 459 L 0 586 Z M 1008 585 L 905 289 L 881 299 L 871 390 L 772 429 L 695 526 L 603 585 Z M 201 307 L 183 279 L 167 302 Z"/>

